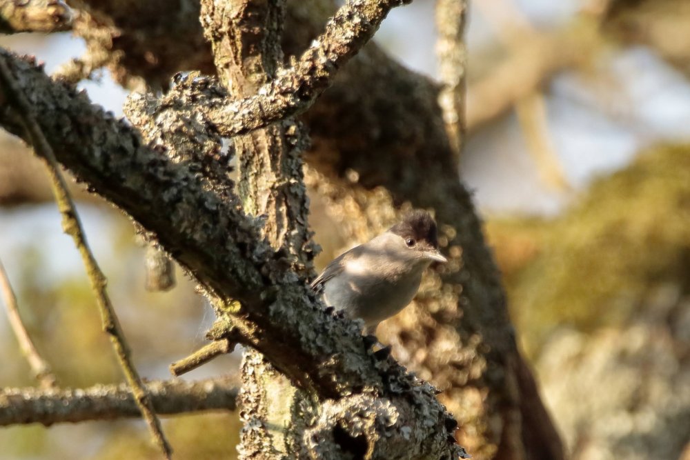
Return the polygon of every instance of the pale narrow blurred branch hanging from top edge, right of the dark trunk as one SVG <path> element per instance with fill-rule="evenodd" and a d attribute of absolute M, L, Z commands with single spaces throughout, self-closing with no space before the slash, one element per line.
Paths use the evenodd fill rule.
<path fill-rule="evenodd" d="M 443 83 L 443 88 L 438 95 L 438 103 L 443 110 L 446 131 L 456 158 L 459 158 L 462 152 L 465 134 L 467 48 L 464 32 L 466 16 L 466 0 L 437 0 L 436 53 Z"/>

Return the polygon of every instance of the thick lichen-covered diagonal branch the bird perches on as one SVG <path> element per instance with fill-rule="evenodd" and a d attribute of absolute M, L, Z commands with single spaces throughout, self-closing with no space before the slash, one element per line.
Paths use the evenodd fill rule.
<path fill-rule="evenodd" d="M 448 439 L 449 414 L 433 389 L 392 359 L 378 361 L 368 352 L 355 323 L 332 317 L 314 300 L 306 280 L 286 270 L 282 252 L 259 237 L 257 224 L 237 203 L 206 190 L 183 163 L 142 146 L 137 132 L 91 106 L 84 94 L 7 52 L 0 56 L 34 110 L 52 114 L 39 123 L 56 156 L 92 190 L 155 232 L 161 246 L 212 294 L 217 308 L 230 314 L 244 343 L 293 381 L 322 398 L 346 399 L 353 410 L 366 413 L 365 399 L 384 397 L 388 405 L 381 406 L 380 416 L 393 425 L 386 426 L 377 451 L 382 457 L 407 455 L 410 448 L 420 456 L 462 454 Z M 8 105 L 0 111 L 0 125 L 26 137 Z M 409 442 L 400 443 L 406 437 Z"/>

